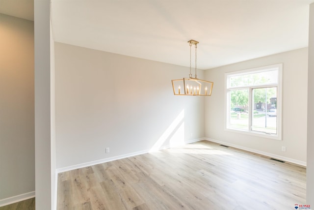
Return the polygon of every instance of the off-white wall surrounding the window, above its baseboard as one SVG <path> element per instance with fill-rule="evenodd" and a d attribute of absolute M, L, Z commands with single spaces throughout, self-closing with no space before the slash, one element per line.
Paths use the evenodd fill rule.
<path fill-rule="evenodd" d="M 225 131 L 225 73 L 276 63 L 283 63 L 282 141 Z M 210 69 L 205 74 L 214 82 L 212 96 L 205 102 L 206 137 L 306 164 L 308 48 Z M 286 152 L 281 151 L 282 146 L 287 147 Z"/>

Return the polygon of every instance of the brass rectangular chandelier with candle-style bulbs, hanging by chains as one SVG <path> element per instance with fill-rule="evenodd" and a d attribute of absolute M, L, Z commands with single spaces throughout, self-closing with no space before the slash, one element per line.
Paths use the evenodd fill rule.
<path fill-rule="evenodd" d="M 196 50 L 197 50 L 197 44 L 198 41 L 195 40 L 189 40 L 188 41 L 190 45 L 190 73 L 189 78 L 178 79 L 178 80 L 172 80 L 172 88 L 173 93 L 175 95 L 202 95 L 202 96 L 210 96 L 211 90 L 213 86 L 213 82 L 205 81 L 197 79 L 196 74 Z M 192 51 L 192 45 L 195 46 L 195 78 L 192 77 L 192 57 L 191 57 L 191 51 Z"/>

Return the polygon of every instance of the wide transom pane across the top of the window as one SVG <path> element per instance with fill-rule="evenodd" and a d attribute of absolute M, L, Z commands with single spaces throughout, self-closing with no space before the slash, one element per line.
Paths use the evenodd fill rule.
<path fill-rule="evenodd" d="M 278 70 L 264 71 L 230 77 L 230 87 L 267 85 L 278 82 Z"/>

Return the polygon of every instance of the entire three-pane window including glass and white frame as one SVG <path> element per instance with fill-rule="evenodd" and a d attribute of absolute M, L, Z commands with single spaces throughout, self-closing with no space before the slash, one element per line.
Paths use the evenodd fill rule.
<path fill-rule="evenodd" d="M 226 74 L 226 129 L 281 139 L 282 64 Z"/>

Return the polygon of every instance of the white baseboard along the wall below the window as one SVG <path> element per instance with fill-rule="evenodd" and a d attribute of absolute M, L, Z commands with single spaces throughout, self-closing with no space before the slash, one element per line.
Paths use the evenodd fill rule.
<path fill-rule="evenodd" d="M 215 143 L 218 143 L 218 144 L 234 147 L 234 148 L 237 148 L 237 149 L 240 149 L 240 150 L 246 150 L 246 151 L 254 152 L 254 153 L 257 153 L 257 154 L 262 154 L 264 156 L 268 156 L 268 157 L 284 160 L 284 161 L 287 161 L 287 162 L 290 162 L 290 163 L 298 164 L 298 165 L 301 165 L 301 166 L 306 166 L 306 162 L 304 162 L 304 161 L 288 158 L 288 157 L 277 155 L 277 154 L 268 153 L 268 152 L 265 152 L 265 151 L 254 150 L 254 149 L 251 149 L 251 148 L 238 146 L 238 145 L 234 145 L 234 144 L 229 143 L 229 142 L 223 142 L 223 141 L 219 141 L 219 140 L 216 140 L 216 139 L 210 139 L 210 138 L 204 138 L 204 139 L 207 140 L 207 141 L 210 141 L 210 142 L 215 142 Z"/>

